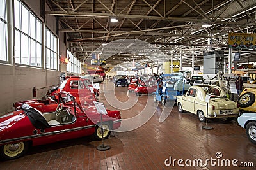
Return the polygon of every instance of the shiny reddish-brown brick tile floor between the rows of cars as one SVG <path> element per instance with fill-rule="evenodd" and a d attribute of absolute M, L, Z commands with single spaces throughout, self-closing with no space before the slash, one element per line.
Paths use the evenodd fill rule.
<path fill-rule="evenodd" d="M 91 137 L 77 138 L 35 146 L 20 159 L 1 160 L 0 169 L 256 169 L 256 145 L 248 141 L 244 129 L 236 120 L 209 120 L 213 129 L 205 130 L 202 129 L 205 123 L 200 122 L 196 115 L 179 113 L 177 106 L 174 106 L 169 111 L 170 115 L 160 123 L 161 111 L 171 106 L 163 108 L 160 103 L 154 103 L 153 95 L 137 97 L 129 94 L 127 87 L 113 87 L 110 81 L 105 81 L 100 87 L 99 101 L 111 110 L 116 109 L 111 105 L 122 108 L 120 111 L 127 127 L 140 122 L 141 117 L 134 122 L 125 123 L 125 120 L 140 114 L 146 104 L 148 108 L 152 107 L 150 110 L 154 115 L 133 131 L 111 132 L 111 136 L 104 141 L 104 144 L 111 146 L 110 150 L 97 150 L 102 141 L 92 141 Z M 115 97 L 129 102 L 118 104 L 113 101 Z M 150 117 L 150 111 L 147 112 Z M 172 162 L 176 160 L 166 166 L 164 161 L 168 164 L 166 159 L 170 157 Z M 206 166 L 197 166 L 196 161 L 202 160 L 204 164 L 207 159 L 210 160 Z M 232 165 L 234 159 L 237 159 L 234 162 L 237 167 Z M 178 160 L 183 162 L 178 164 Z M 229 161 L 230 166 L 225 166 L 225 161 Z M 254 167 L 240 166 L 251 162 Z"/>

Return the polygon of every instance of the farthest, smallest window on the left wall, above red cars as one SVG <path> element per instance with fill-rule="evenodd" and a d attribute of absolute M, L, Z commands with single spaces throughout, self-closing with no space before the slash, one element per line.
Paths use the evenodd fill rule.
<path fill-rule="evenodd" d="M 76 57 L 67 49 L 67 58 L 69 57 L 69 62 L 67 64 L 67 72 L 70 73 L 81 73 L 81 62 L 76 59 Z"/>

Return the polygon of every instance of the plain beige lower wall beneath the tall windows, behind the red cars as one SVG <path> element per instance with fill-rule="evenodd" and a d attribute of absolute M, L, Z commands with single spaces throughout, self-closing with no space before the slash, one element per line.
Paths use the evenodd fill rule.
<path fill-rule="evenodd" d="M 60 72 L 33 67 L 0 64 L 0 115 L 13 110 L 15 101 L 33 99 L 32 89 L 36 87 L 35 99 L 45 96 L 50 87 L 60 82 Z"/>

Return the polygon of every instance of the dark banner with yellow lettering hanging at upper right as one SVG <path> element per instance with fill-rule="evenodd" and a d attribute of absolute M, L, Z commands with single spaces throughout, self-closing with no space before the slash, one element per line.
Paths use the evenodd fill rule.
<path fill-rule="evenodd" d="M 256 34 L 228 33 L 228 48 L 255 50 Z"/>

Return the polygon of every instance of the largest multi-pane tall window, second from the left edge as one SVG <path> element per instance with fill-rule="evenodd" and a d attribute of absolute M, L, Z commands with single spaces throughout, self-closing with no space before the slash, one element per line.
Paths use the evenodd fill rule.
<path fill-rule="evenodd" d="M 15 62 L 42 67 L 42 22 L 19 0 L 14 1 L 14 13 Z"/>

